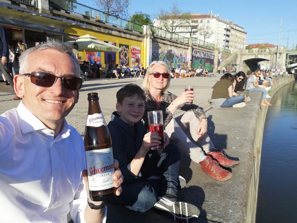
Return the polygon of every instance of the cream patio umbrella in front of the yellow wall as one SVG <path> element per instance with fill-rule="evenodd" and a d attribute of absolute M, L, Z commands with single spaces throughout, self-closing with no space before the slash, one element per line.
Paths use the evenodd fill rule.
<path fill-rule="evenodd" d="M 109 43 L 102 42 L 96 37 L 91 35 L 84 35 L 78 37 L 76 41 L 67 41 L 65 44 L 72 45 L 73 43 L 78 44 L 80 50 L 87 52 L 120 52 L 121 48 L 111 45 Z"/>

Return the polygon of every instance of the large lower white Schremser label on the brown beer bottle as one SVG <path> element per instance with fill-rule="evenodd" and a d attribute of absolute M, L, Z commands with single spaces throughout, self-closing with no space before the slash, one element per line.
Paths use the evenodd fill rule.
<path fill-rule="evenodd" d="M 112 147 L 86 151 L 88 182 L 90 191 L 105 190 L 113 187 Z"/>

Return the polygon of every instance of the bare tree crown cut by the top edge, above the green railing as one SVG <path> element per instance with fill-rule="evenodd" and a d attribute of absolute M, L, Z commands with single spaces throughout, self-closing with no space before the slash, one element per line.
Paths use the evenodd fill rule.
<path fill-rule="evenodd" d="M 95 0 L 99 10 L 120 18 L 129 18 L 129 0 Z"/>

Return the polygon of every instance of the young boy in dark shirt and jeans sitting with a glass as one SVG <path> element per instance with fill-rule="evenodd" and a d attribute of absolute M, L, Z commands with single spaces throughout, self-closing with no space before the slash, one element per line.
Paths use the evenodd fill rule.
<path fill-rule="evenodd" d="M 136 84 L 127 84 L 117 92 L 116 98 L 117 111 L 113 112 L 108 128 L 113 157 L 120 163 L 124 181 L 123 192 L 111 202 L 140 212 L 155 207 L 180 222 L 198 218 L 197 207 L 178 202 L 181 155 L 176 145 L 169 144 L 164 133 L 165 149 L 150 150 L 161 143 L 161 137 L 155 132 L 147 133 L 141 122 L 146 100 L 143 90 Z"/>

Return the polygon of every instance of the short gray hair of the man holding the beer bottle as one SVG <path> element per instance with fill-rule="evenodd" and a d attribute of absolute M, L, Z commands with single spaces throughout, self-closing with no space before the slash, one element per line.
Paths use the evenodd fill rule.
<path fill-rule="evenodd" d="M 79 66 L 78 60 L 76 59 L 75 55 L 73 54 L 72 45 L 66 45 L 64 43 L 59 43 L 54 40 L 39 44 L 39 45 L 29 48 L 25 52 L 23 52 L 19 58 L 19 64 L 20 64 L 19 74 L 21 75 L 21 74 L 27 73 L 28 61 L 29 61 L 31 54 L 34 54 L 34 53 L 37 53 L 37 52 L 40 52 L 43 50 L 47 50 L 47 49 L 52 49 L 52 50 L 59 51 L 61 53 L 69 54 L 74 59 L 76 65 L 77 65 L 77 68 L 78 68 L 77 75 L 78 75 L 78 77 L 80 76 L 80 73 L 79 73 L 80 66 Z M 51 58 L 48 58 L 48 59 L 50 60 Z M 36 61 L 36 63 L 38 63 L 38 61 Z"/>

